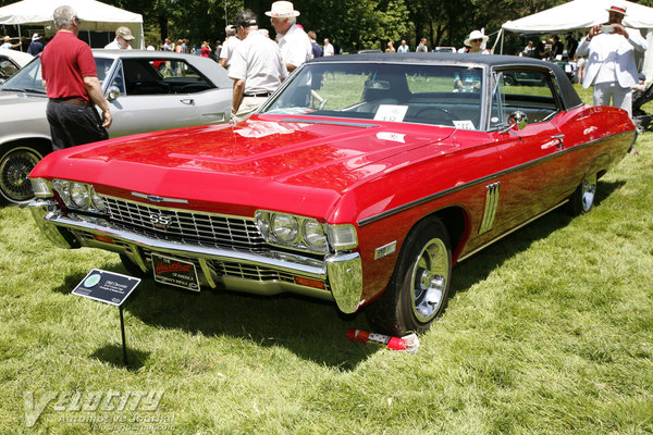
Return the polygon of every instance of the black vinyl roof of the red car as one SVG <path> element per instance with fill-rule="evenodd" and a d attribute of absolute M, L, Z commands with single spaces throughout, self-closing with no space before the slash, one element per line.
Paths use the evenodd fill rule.
<path fill-rule="evenodd" d="M 421 63 L 442 65 L 488 65 L 491 69 L 509 69 L 520 66 L 532 66 L 550 70 L 556 77 L 565 109 L 569 110 L 582 104 L 582 100 L 574 89 L 571 82 L 565 72 L 555 63 L 541 61 L 532 58 L 500 54 L 468 54 L 468 53 L 360 53 L 340 54 L 316 58 L 309 63 L 329 62 L 391 62 L 391 63 Z"/>

